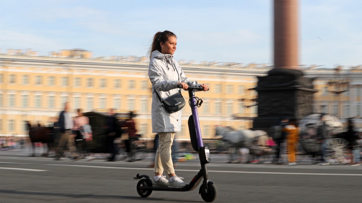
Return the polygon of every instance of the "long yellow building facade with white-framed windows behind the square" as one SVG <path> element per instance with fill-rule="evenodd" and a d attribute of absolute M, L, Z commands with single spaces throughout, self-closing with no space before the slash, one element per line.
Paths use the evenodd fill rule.
<path fill-rule="evenodd" d="M 194 64 L 182 60 L 179 63 L 187 77 L 210 87 L 210 91 L 196 93 L 203 99 L 199 119 L 204 138 L 213 138 L 217 125 L 252 128 L 252 120 L 257 116 L 257 92 L 252 88 L 256 86 L 256 76 L 265 75 L 270 67 L 216 62 Z M 301 68 L 306 69 L 307 76 L 319 77 L 315 81 L 319 90 L 315 94 L 316 112 L 333 113 L 338 105 L 336 114 L 341 113 L 341 117 L 361 116 L 362 70 L 358 67 L 348 70 L 345 75 L 352 81 L 353 94 L 348 91 L 336 98 L 328 86 L 335 75 L 333 70 Z M 187 101 L 187 92 L 183 95 Z M 25 136 L 25 121 L 51 125 L 69 101 L 74 116 L 78 108 L 84 112 L 106 112 L 108 108 L 122 113 L 134 111 L 138 133 L 153 138 L 151 100 L 145 57 L 92 58 L 92 53 L 83 49 L 50 52 L 49 56 L 38 56 L 31 50 L 0 53 L 0 136 Z M 178 138 L 189 137 L 190 113 L 186 105 L 182 109 L 182 130 Z"/>

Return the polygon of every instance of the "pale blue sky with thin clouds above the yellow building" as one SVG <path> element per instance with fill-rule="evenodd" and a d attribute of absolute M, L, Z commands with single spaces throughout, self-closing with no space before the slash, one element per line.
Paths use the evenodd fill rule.
<path fill-rule="evenodd" d="M 157 31 L 186 61 L 273 64 L 271 0 L 0 0 L 0 49 L 145 56 Z M 299 64 L 362 64 L 362 1 L 299 1 Z"/>

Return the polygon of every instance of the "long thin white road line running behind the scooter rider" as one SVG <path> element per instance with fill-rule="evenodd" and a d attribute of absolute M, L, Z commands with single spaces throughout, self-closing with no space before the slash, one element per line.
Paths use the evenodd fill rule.
<path fill-rule="evenodd" d="M 133 170 L 153 170 L 153 168 L 127 168 L 127 167 L 102 167 L 89 165 L 71 165 L 71 164 L 46 164 L 56 166 L 89 167 L 89 168 L 111 168 L 111 169 L 133 169 Z M 199 170 L 175 169 L 176 171 L 198 172 Z M 286 175 L 318 175 L 318 176 L 362 176 L 362 174 L 346 173 L 284 173 L 284 172 L 251 172 L 251 171 L 232 171 L 232 170 L 209 170 L 216 173 L 256 173 L 256 174 L 286 174 Z"/>

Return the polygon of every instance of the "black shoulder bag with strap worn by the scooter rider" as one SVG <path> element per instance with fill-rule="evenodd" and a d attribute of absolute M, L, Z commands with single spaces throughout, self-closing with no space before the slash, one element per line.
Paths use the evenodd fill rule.
<path fill-rule="evenodd" d="M 175 67 L 177 75 L 178 71 Z M 178 81 L 180 81 L 180 75 L 178 75 Z M 182 108 L 184 108 L 186 102 L 184 97 L 181 94 L 181 90 L 178 90 L 178 92 L 174 95 L 169 96 L 168 98 L 162 100 L 158 92 L 155 90 L 157 98 L 162 103 L 163 107 L 166 109 L 169 113 L 174 113 L 180 111 Z"/>

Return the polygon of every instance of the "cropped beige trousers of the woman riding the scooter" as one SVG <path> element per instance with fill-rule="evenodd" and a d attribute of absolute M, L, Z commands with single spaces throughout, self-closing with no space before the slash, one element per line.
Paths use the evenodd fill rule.
<path fill-rule="evenodd" d="M 173 143 L 173 138 L 175 137 L 174 132 L 172 133 L 158 133 L 159 134 L 159 147 L 157 148 L 156 158 L 155 158 L 155 173 L 172 174 L 175 173 L 173 169 L 173 163 L 171 158 L 171 146 Z"/>

